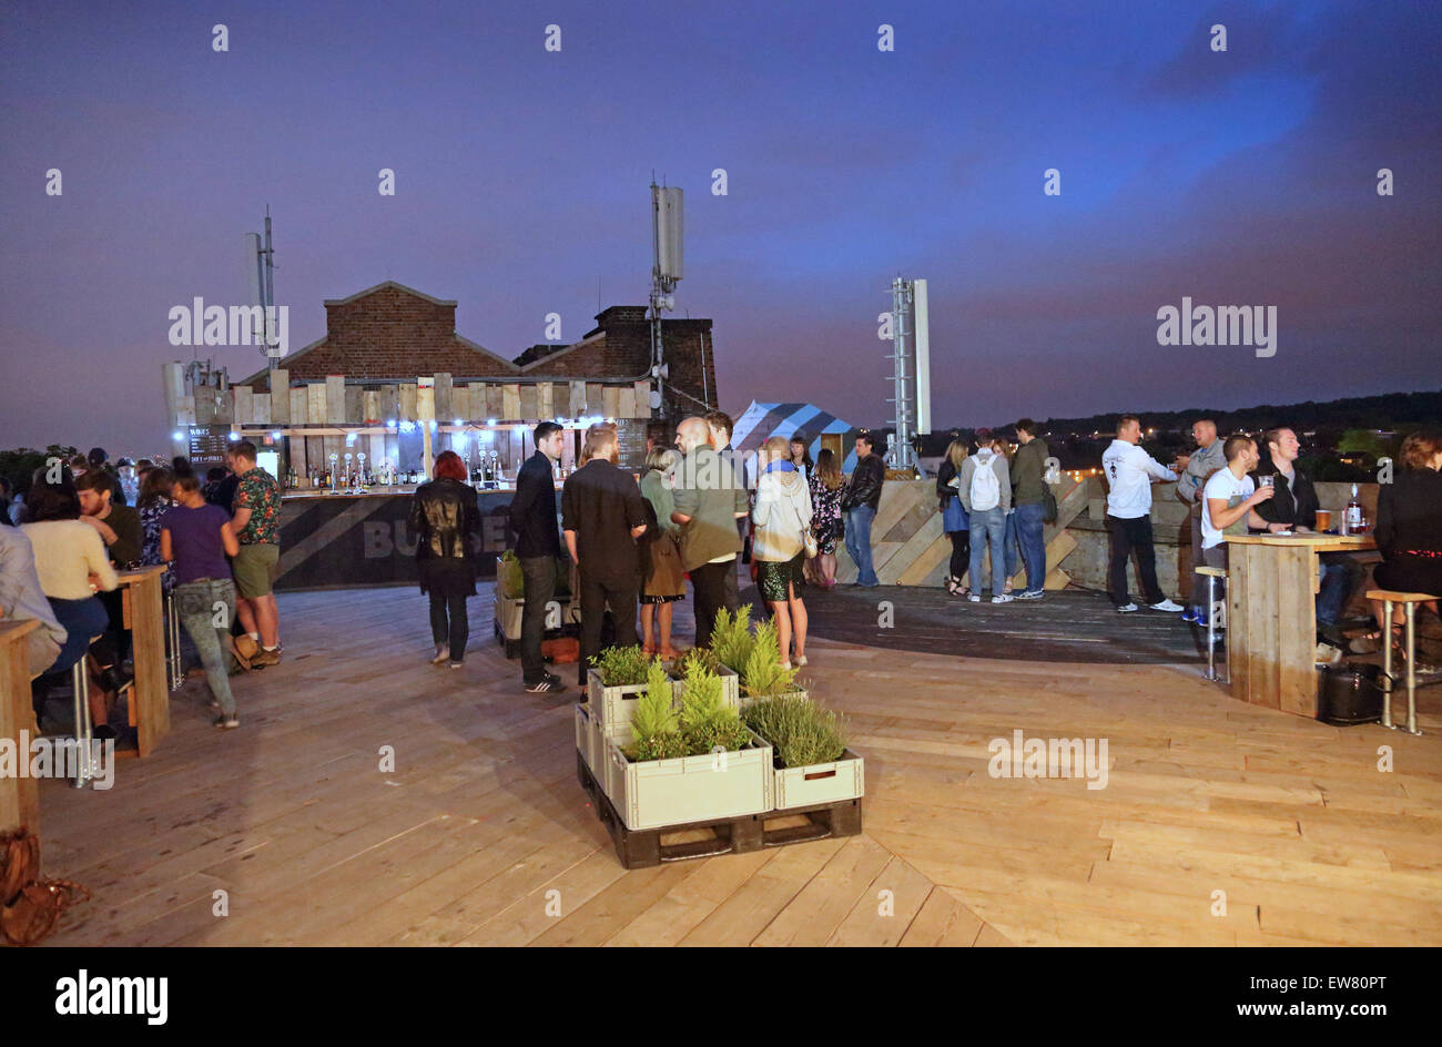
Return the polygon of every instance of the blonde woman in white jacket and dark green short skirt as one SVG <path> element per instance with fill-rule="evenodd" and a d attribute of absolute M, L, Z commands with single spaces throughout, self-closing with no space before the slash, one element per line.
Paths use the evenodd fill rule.
<path fill-rule="evenodd" d="M 812 506 L 802 472 L 792 461 L 786 437 L 771 437 L 761 444 L 761 476 L 756 485 L 751 521 L 756 536 L 751 558 L 757 564 L 756 587 L 776 620 L 776 639 L 782 668 L 792 668 L 792 643 L 796 663 L 806 665 L 806 604 L 800 590 L 806 539 L 810 536 Z"/>

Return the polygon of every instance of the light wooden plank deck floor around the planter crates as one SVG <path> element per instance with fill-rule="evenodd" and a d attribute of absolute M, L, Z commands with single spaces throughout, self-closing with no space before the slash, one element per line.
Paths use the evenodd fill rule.
<path fill-rule="evenodd" d="M 818 642 L 865 832 L 626 872 L 570 704 L 519 689 L 489 607 L 451 672 L 412 590 L 283 596 L 286 661 L 236 681 L 241 730 L 192 679 L 112 790 L 43 783 L 46 874 L 94 891 L 49 943 L 1442 943 L 1442 688 L 1413 738 L 1256 710 L 1190 665 Z M 991 777 L 1015 730 L 1106 738 L 1106 787 Z"/>

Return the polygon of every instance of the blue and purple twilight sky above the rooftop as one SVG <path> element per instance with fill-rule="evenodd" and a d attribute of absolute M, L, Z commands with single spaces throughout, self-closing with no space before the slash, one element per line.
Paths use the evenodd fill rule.
<path fill-rule="evenodd" d="M 733 411 L 884 423 L 897 274 L 937 428 L 1433 389 L 1439 40 L 1432 0 L 4 1 L 0 447 L 164 449 L 167 312 L 244 301 L 267 203 L 291 349 L 388 278 L 505 356 L 572 342 L 646 301 L 653 170 Z M 1159 346 L 1182 296 L 1276 306 L 1276 355 Z"/>

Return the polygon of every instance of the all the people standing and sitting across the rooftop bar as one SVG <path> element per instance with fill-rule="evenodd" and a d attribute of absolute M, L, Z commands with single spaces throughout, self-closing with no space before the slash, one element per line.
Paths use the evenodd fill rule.
<path fill-rule="evenodd" d="M 518 474 L 509 524 L 523 583 L 522 686 L 532 694 L 565 689 L 547 669 L 542 639 L 558 571 L 574 570 L 581 611 L 580 684 L 603 643 L 640 646 L 675 658 L 675 604 L 691 583 L 695 646 L 708 646 L 721 610 L 741 604 L 738 560 L 776 623 L 786 668 L 808 663 L 806 586 L 836 586 L 836 545 L 857 565 L 855 586 L 877 587 L 871 525 L 885 467 L 872 438 L 855 440 L 857 464 L 842 474 L 838 454 L 810 460 L 797 437 L 766 440 L 754 483 L 731 447 L 731 418 L 714 411 L 684 420 L 675 446 L 652 446 L 637 482 L 619 467 L 611 424 L 591 425 L 559 499 L 555 469 L 565 431 L 554 423 L 534 430 L 535 453 Z M 978 430 L 955 438 L 936 474 L 943 532 L 952 544 L 946 591 L 994 604 L 1041 600 L 1045 594 L 1044 526 L 1056 519 L 1048 447 L 1030 418 L 1015 425 L 1017 443 Z M 1190 606 L 1167 598 L 1156 578 L 1151 522 L 1152 485 L 1174 482 L 1190 509 L 1193 565 L 1226 568 L 1229 535 L 1306 534 L 1319 509 L 1311 479 L 1298 466 L 1299 440 L 1288 427 L 1259 437 L 1221 438 L 1216 423 L 1191 427 L 1195 451 L 1164 466 L 1141 447 L 1142 427 L 1123 415 L 1102 457 L 1110 534 L 1109 596 L 1119 613 L 1139 610 L 1129 591 L 1135 557 L 1139 597 L 1152 610 L 1181 613 L 1206 626 L 1213 606 L 1206 584 L 1191 581 Z M 1442 436 L 1409 436 L 1396 476 L 1380 485 L 1374 526 L 1381 564 L 1377 586 L 1442 591 Z M 0 616 L 32 617 L 29 637 L 35 705 L 45 712 L 52 688 L 85 659 L 97 735 L 114 734 L 115 695 L 133 679 L 127 669 L 118 571 L 169 564 L 164 584 L 213 694 L 215 724 L 239 724 L 229 676 L 281 658 L 271 584 L 280 555 L 280 487 L 255 464 L 255 447 L 231 446 L 226 469 L 202 480 L 185 459 L 167 464 L 120 459 L 102 449 L 69 461 L 52 459 L 14 498 L 0 496 Z M 482 521 L 476 492 L 454 451 L 435 459 L 434 479 L 414 496 L 410 524 L 421 591 L 428 596 L 434 663 L 459 669 L 469 642 L 466 600 L 476 593 Z M 748 557 L 746 551 L 748 549 Z M 1012 578 L 1025 570 L 1025 587 Z M 1335 629 L 1366 578 L 1347 552 L 1321 557 L 1317 594 L 1319 629 Z M 1220 598 L 1218 593 L 1218 598 Z M 1433 613 L 1436 606 L 1430 604 Z M 1383 639 L 1387 623 L 1376 609 Z M 637 629 L 639 619 L 639 629 Z M 1221 623 L 1214 623 L 1221 626 Z M 1400 620 L 1393 623 L 1400 627 Z"/>

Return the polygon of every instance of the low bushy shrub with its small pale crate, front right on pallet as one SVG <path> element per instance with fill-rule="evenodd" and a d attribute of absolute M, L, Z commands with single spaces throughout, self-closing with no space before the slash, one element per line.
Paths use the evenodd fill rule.
<path fill-rule="evenodd" d="M 750 702 L 741 718 L 771 743 L 777 810 L 849 800 L 865 790 L 862 760 L 846 748 L 845 717 L 805 695 L 782 694 Z"/>

